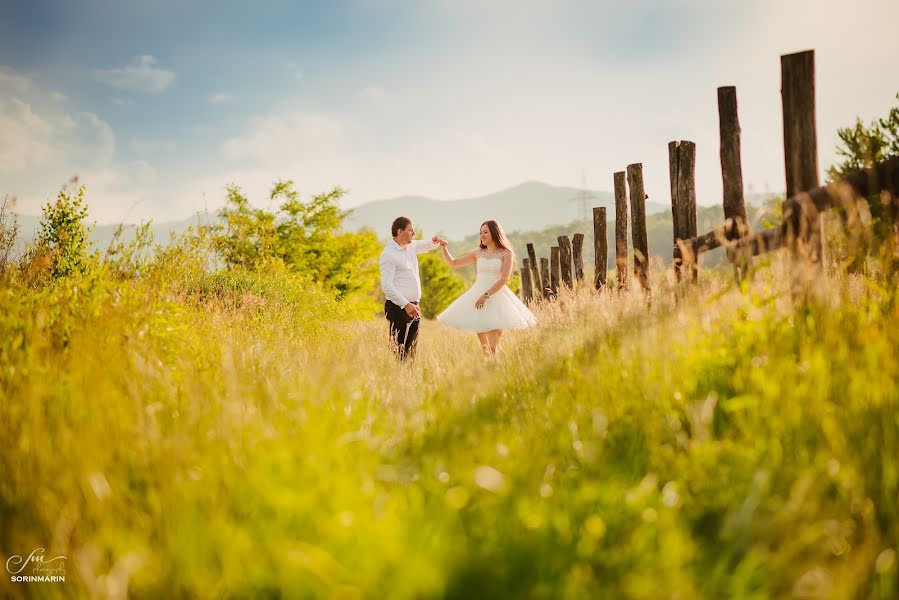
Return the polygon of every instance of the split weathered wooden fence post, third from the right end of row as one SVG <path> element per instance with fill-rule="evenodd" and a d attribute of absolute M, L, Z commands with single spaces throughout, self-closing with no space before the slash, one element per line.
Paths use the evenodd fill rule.
<path fill-rule="evenodd" d="M 674 225 L 674 272 L 680 281 L 697 277 L 696 256 L 692 244 L 696 237 L 696 144 L 688 141 L 668 143 L 668 173 L 671 178 L 671 218 Z"/>

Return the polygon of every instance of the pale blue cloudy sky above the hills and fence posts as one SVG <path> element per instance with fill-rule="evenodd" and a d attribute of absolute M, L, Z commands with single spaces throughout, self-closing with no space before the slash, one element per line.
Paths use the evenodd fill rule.
<path fill-rule="evenodd" d="M 0 0 L 0 194 L 73 175 L 99 223 L 185 219 L 278 179 L 346 208 L 543 181 L 611 190 L 672 140 L 721 201 L 717 88 L 747 191 L 783 190 L 780 56 L 814 49 L 819 166 L 899 93 L 896 0 Z"/>

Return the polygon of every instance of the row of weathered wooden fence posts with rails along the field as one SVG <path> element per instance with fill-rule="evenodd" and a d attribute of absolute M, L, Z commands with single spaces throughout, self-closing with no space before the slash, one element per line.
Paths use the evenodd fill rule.
<path fill-rule="evenodd" d="M 723 181 L 724 223 L 697 235 L 696 232 L 696 145 L 687 140 L 668 144 L 672 211 L 673 265 L 678 281 L 693 282 L 698 277 L 699 257 L 715 248 L 724 247 L 739 279 L 748 273 L 754 256 L 789 248 L 794 258 L 814 265 L 796 269 L 794 276 L 823 273 L 822 215 L 835 207 L 857 211 L 858 198 L 878 193 L 885 203 L 882 218 L 894 228 L 899 223 L 899 156 L 886 159 L 871 168 L 847 175 L 840 181 L 822 186 L 818 181 L 817 132 L 815 127 L 815 56 L 813 50 L 781 56 L 781 92 L 783 105 L 784 163 L 787 199 L 781 206 L 782 223 L 772 229 L 752 233 L 746 218 L 741 161 L 741 129 L 737 110 L 737 91 L 733 86 L 718 88 L 721 177 Z M 615 266 L 618 289 L 628 286 L 627 233 L 631 224 L 634 249 L 633 273 L 648 293 L 649 248 L 646 235 L 646 193 L 643 166 L 634 163 L 625 171 L 614 173 L 615 189 Z M 628 215 L 628 192 L 630 215 Z M 628 219 L 630 216 L 630 219 Z M 608 270 L 606 209 L 593 209 L 594 281 L 596 289 L 606 286 Z M 584 236 L 574 234 L 574 256 L 567 235 L 558 238 L 559 245 L 550 250 L 550 259 L 540 259 L 542 283 L 537 271 L 533 244 L 528 244 L 528 258 L 521 271 L 523 295 L 552 298 L 560 285 L 574 287 L 572 258 L 578 284 L 584 279 L 582 247 Z M 547 273 L 548 271 L 548 273 Z M 525 275 L 527 273 L 527 275 Z M 536 286 L 529 282 L 538 282 Z M 549 281 L 547 281 L 549 280 Z M 540 293 L 542 286 L 543 293 Z M 537 290 L 535 294 L 534 291 Z"/>

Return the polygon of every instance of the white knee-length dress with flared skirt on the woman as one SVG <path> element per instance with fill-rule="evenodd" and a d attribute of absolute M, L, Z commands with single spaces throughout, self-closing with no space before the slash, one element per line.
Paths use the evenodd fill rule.
<path fill-rule="evenodd" d="M 524 329 L 537 323 L 537 317 L 518 296 L 503 286 L 499 292 L 477 309 L 474 304 L 484 292 L 499 280 L 503 267 L 503 252 L 477 251 L 478 276 L 474 284 L 437 315 L 437 320 L 456 329 L 483 333 L 494 329 Z"/>

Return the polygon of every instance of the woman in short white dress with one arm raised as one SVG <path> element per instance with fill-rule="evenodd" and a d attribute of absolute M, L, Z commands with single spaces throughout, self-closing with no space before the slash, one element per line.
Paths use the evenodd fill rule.
<path fill-rule="evenodd" d="M 506 287 L 515 255 L 499 223 L 484 222 L 480 246 L 460 258 L 452 257 L 445 240 L 441 240 L 440 246 L 450 266 L 476 263 L 478 276 L 465 293 L 437 315 L 437 320 L 477 333 L 487 356 L 496 354 L 504 329 L 523 329 L 537 323 L 534 313 Z"/>

